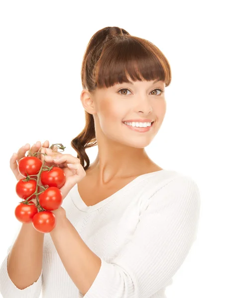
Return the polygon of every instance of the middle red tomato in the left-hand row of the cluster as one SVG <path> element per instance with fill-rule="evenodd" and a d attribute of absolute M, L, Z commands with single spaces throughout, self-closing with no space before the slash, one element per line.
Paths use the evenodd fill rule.
<path fill-rule="evenodd" d="M 36 191 L 36 181 L 35 180 L 28 180 L 23 181 L 24 178 L 18 180 L 15 190 L 16 194 L 19 196 L 19 198 L 26 200 L 30 195 L 32 195 Z M 36 196 L 30 197 L 30 200 L 36 199 Z M 29 201 L 30 201 L 29 200 Z"/>

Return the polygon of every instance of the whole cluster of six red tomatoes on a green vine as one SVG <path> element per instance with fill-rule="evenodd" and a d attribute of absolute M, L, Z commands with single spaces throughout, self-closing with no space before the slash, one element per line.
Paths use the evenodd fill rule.
<path fill-rule="evenodd" d="M 60 188 L 65 183 L 65 173 L 60 167 L 42 165 L 36 156 L 25 156 L 18 161 L 18 171 L 25 178 L 18 180 L 15 187 L 16 194 L 23 201 L 15 208 L 14 214 L 19 222 L 32 223 L 37 231 L 48 233 L 56 225 L 52 211 L 63 202 Z"/>

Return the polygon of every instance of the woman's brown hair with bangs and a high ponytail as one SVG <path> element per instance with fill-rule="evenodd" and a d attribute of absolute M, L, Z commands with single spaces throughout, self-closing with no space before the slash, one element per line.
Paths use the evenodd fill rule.
<path fill-rule="evenodd" d="M 111 87 L 128 82 L 128 75 L 136 80 L 163 80 L 171 82 L 171 68 L 164 54 L 150 41 L 132 36 L 118 27 L 105 27 L 90 39 L 81 68 L 83 89 Z M 85 128 L 75 137 L 71 146 L 78 153 L 85 170 L 90 165 L 86 149 L 96 146 L 94 117 L 85 110 Z M 86 165 L 84 166 L 84 162 Z"/>

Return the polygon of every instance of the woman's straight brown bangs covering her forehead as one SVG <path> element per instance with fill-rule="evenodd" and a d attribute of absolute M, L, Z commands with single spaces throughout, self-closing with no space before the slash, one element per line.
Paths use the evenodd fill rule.
<path fill-rule="evenodd" d="M 106 43 L 94 76 L 99 89 L 129 80 L 161 80 L 168 86 L 171 69 L 166 57 L 154 44 L 135 36 L 124 36 Z"/>

